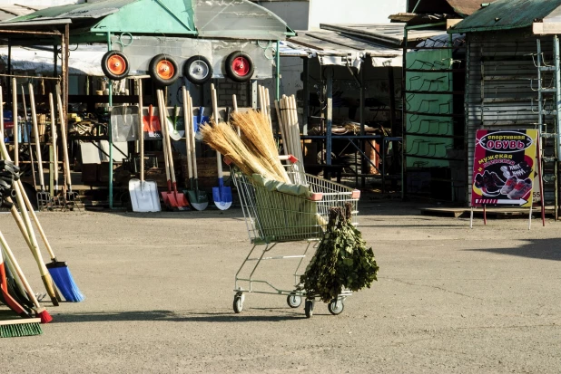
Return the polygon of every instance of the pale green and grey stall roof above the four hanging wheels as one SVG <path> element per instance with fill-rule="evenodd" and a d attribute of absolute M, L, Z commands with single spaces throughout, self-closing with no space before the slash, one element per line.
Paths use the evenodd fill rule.
<path fill-rule="evenodd" d="M 294 34 L 276 14 L 249 0 L 102 0 L 46 8 L 2 24 L 68 20 L 71 34 L 103 42 L 103 34 L 189 35 L 283 40 Z"/>

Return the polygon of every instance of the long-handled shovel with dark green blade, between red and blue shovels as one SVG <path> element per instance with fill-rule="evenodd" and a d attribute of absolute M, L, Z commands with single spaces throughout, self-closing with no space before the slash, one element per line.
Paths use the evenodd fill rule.
<path fill-rule="evenodd" d="M 189 92 L 183 86 L 183 121 L 185 122 L 185 147 L 187 149 L 187 171 L 189 173 L 189 185 L 191 189 L 184 189 L 183 193 L 189 199 L 189 203 L 196 210 L 204 210 L 209 205 L 209 197 L 206 192 L 199 190 L 197 179 L 197 158 L 195 154 L 195 134 L 192 126 L 192 99 Z"/>

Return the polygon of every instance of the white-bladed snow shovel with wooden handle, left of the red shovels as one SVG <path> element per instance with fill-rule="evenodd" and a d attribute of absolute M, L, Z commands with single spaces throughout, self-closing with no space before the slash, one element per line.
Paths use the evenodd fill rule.
<path fill-rule="evenodd" d="M 143 120 L 143 84 L 138 84 L 138 106 L 139 106 L 139 145 L 140 145 L 140 179 L 129 180 L 129 192 L 133 212 L 159 212 L 160 197 L 158 197 L 158 185 L 153 180 L 144 180 L 144 120 Z M 148 124 L 152 126 L 153 106 L 148 109 Z"/>

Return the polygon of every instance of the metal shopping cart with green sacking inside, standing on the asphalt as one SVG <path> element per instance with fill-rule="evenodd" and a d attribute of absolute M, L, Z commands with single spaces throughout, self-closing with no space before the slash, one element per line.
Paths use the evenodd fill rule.
<path fill-rule="evenodd" d="M 253 245 L 235 276 L 233 310 L 236 313 L 243 310 L 245 293 L 279 294 L 287 296 L 290 308 L 298 308 L 305 298 L 304 310 L 306 316 L 310 318 L 317 296 L 307 294 L 303 289 L 300 283 L 300 267 L 310 247 L 315 249 L 319 245 L 326 229 L 331 206 L 344 207 L 349 203 L 352 209 L 352 223 L 358 224 L 357 207 L 360 191 L 300 172 L 298 160 L 292 156 L 281 158 L 290 161 L 287 172 L 291 182 L 307 185 L 307 187 L 300 187 L 300 191 L 296 194 L 293 190 L 286 191 L 286 188 L 283 188 L 288 187 L 287 185 L 277 189 L 271 187 L 271 184 L 262 184 L 255 177 L 242 174 L 235 167 L 231 168 L 231 176 L 241 199 L 241 209 Z M 276 245 L 286 242 L 304 242 L 303 254 L 265 256 Z M 262 248 L 261 254 L 256 251 L 258 247 Z M 256 271 L 263 261 L 283 259 L 299 259 L 293 274 L 292 289 L 278 288 L 270 281 L 256 276 Z M 255 265 L 250 266 L 249 263 Z M 248 275 L 242 276 L 242 273 Z M 351 293 L 343 290 L 336 299 L 332 300 L 328 304 L 330 313 L 337 315 L 343 312 L 344 301 Z"/>

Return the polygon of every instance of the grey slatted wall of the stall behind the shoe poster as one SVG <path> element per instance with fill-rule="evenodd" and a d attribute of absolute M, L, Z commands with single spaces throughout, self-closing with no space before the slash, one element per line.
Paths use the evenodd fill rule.
<path fill-rule="evenodd" d="M 546 62 L 553 64 L 552 37 L 544 37 Z M 477 129 L 536 129 L 537 68 L 536 35 L 522 32 L 477 33 L 467 35 L 466 140 L 467 201 L 471 201 L 471 181 Z M 542 81 L 553 86 L 553 74 Z M 551 101 L 546 102 L 546 109 Z M 555 132 L 551 116 L 545 117 L 547 132 Z M 553 141 L 545 144 L 553 153 Z M 553 175 L 544 179 L 553 180 Z M 553 185 L 545 185 L 546 203 L 554 201 Z"/>

